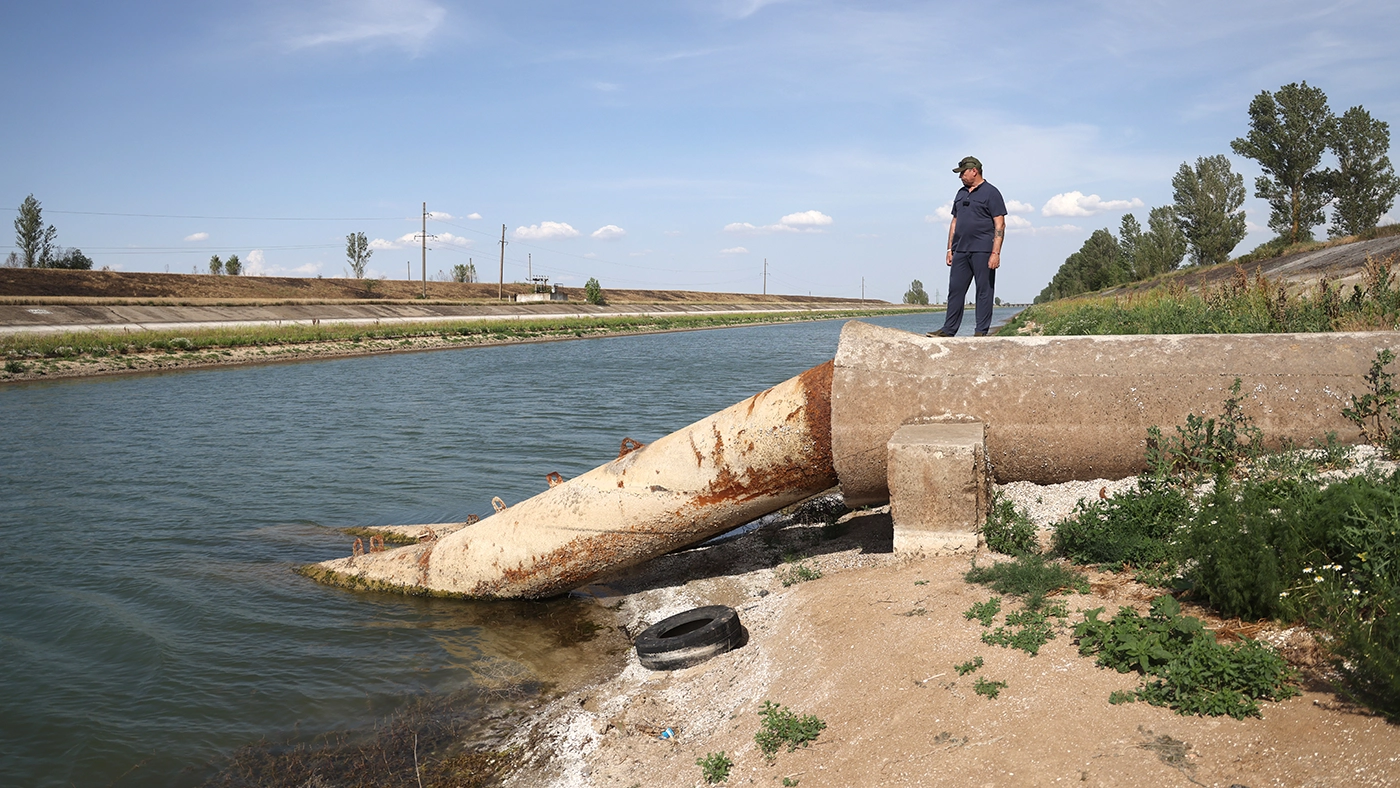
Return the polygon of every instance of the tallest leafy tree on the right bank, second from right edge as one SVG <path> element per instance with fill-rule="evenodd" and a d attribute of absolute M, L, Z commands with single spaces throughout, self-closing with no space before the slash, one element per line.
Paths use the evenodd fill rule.
<path fill-rule="evenodd" d="M 1306 81 L 1289 83 L 1249 102 L 1249 134 L 1229 144 L 1264 169 L 1254 196 L 1268 200 L 1268 228 L 1289 244 L 1310 239 L 1326 218 L 1329 178 L 1317 165 L 1336 122 L 1327 94 Z"/>

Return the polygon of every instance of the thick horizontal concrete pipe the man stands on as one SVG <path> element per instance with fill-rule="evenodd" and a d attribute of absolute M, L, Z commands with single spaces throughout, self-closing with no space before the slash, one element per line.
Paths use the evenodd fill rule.
<path fill-rule="evenodd" d="M 847 505 L 889 500 L 886 444 L 903 425 L 983 421 L 998 481 L 1120 479 L 1144 469 L 1148 427 L 1245 414 L 1275 445 L 1354 442 L 1348 395 L 1396 333 L 932 339 L 850 322 L 832 378 L 832 453 Z"/>

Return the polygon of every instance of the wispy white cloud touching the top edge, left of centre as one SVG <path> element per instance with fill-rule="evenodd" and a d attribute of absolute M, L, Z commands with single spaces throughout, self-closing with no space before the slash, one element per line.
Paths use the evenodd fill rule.
<path fill-rule="evenodd" d="M 301 20 L 279 20 L 287 49 L 384 46 L 421 52 L 447 18 L 431 0 L 350 0 L 300 10 Z"/>

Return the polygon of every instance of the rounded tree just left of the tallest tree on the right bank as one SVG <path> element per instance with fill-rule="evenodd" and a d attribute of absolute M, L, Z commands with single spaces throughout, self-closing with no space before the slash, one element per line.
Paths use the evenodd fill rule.
<path fill-rule="evenodd" d="M 1245 238 L 1245 178 L 1231 172 L 1224 155 L 1201 157 L 1172 178 L 1176 225 L 1196 265 L 1224 263 Z"/>

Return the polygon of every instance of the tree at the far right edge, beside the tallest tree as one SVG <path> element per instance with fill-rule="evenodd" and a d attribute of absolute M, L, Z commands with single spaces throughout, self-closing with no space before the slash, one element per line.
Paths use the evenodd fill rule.
<path fill-rule="evenodd" d="M 1338 168 L 1329 172 L 1336 197 L 1329 235 L 1359 235 L 1373 230 L 1394 204 L 1400 179 L 1390 167 L 1390 125 L 1361 106 L 1343 113 L 1331 136 Z"/>

